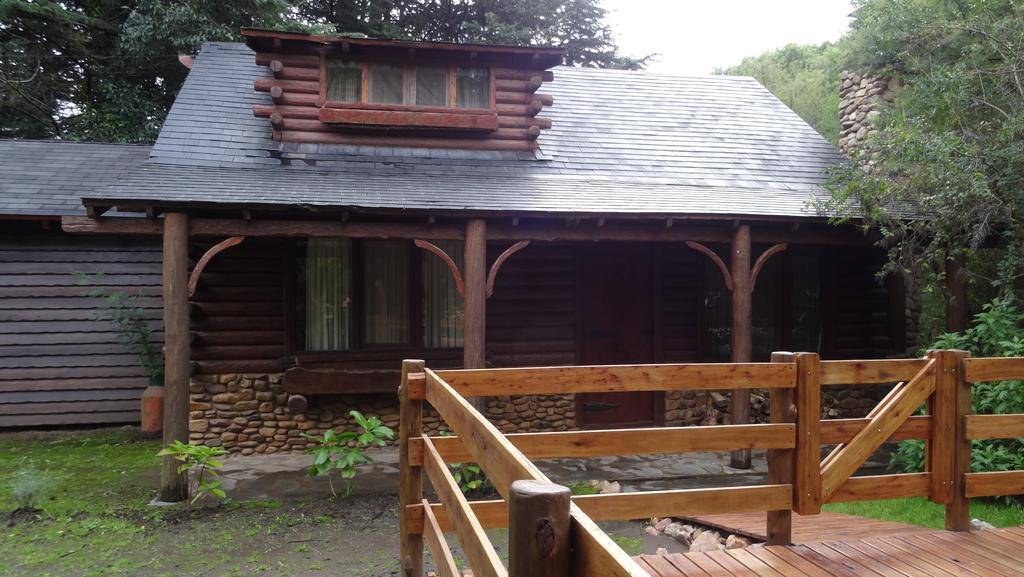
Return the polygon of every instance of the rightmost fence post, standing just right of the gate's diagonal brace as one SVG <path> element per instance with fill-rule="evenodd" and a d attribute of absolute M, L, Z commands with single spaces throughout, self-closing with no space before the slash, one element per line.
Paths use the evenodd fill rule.
<path fill-rule="evenodd" d="M 970 500 L 965 492 L 964 476 L 971 472 L 971 441 L 967 438 L 965 417 L 973 412 L 973 407 L 971 405 L 971 383 L 964 378 L 966 374 L 964 361 L 971 354 L 966 351 L 942 351 L 941 353 L 944 356 L 943 362 L 952 365 L 953 369 L 947 377 L 949 383 L 944 385 L 949 387 L 952 396 L 949 399 L 952 409 L 948 411 L 952 419 L 952 422 L 949 423 L 952 462 L 950 463 L 949 476 L 949 501 L 946 503 L 946 530 L 969 531 L 971 529 L 971 511 L 968 507 Z M 949 358 L 946 359 L 945 355 L 948 355 Z M 936 398 L 938 398 L 938 386 L 939 383 L 936 382 Z M 935 435 L 934 426 L 932 435 Z M 935 447 L 934 443 L 932 447 Z M 934 457 L 932 462 L 935 463 Z"/>

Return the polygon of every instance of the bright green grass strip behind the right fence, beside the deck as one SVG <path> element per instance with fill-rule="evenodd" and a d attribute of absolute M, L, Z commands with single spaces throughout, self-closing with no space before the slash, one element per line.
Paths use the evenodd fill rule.
<path fill-rule="evenodd" d="M 857 514 L 870 519 L 895 521 L 922 527 L 942 529 L 945 508 L 923 497 L 893 499 L 888 501 L 860 501 L 853 503 L 831 503 L 824 510 Z M 997 501 L 971 501 L 971 519 L 980 519 L 996 527 L 1024 525 L 1024 508 L 1020 504 L 1008 505 Z"/>

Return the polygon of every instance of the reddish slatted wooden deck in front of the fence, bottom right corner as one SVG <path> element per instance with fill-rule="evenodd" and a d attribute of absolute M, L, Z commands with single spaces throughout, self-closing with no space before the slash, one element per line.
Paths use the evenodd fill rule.
<path fill-rule="evenodd" d="M 651 577 L 1024 577 L 1024 528 L 634 558 Z"/>

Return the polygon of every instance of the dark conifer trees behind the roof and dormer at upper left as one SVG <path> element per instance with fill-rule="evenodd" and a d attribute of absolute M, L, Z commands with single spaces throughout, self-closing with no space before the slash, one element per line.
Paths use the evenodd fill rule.
<path fill-rule="evenodd" d="M 598 0 L 0 0 L 0 138 L 153 141 L 187 70 L 178 54 L 243 27 L 550 44 L 567 64 L 641 68 Z"/>

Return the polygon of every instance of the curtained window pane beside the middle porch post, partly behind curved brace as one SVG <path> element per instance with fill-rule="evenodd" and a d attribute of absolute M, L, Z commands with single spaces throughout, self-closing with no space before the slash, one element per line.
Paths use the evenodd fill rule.
<path fill-rule="evenodd" d="M 438 247 L 462 270 L 463 243 L 436 241 Z M 429 347 L 462 346 L 462 297 L 456 290 L 452 272 L 436 254 L 423 253 L 424 342 Z"/>

